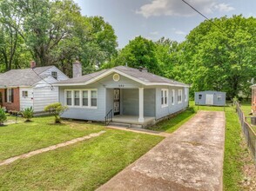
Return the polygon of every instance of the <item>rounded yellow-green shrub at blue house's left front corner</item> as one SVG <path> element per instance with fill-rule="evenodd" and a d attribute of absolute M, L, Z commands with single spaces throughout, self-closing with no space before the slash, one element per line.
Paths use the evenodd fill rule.
<path fill-rule="evenodd" d="M 61 121 L 60 115 L 67 110 L 68 107 L 63 106 L 60 102 L 54 102 L 44 108 L 44 111 L 49 112 L 51 115 L 55 116 L 55 123 L 59 123 Z"/>

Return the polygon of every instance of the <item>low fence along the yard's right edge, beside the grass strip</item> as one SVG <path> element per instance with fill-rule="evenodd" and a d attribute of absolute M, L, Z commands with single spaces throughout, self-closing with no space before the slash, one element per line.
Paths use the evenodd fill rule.
<path fill-rule="evenodd" d="M 241 128 L 246 137 L 247 146 L 251 150 L 251 153 L 253 154 L 254 163 L 256 164 L 256 133 L 253 131 L 251 125 L 248 122 L 246 122 L 246 117 L 242 112 L 242 109 L 240 108 L 239 102 L 235 102 L 234 104 L 236 106 L 236 111 L 239 115 Z"/>

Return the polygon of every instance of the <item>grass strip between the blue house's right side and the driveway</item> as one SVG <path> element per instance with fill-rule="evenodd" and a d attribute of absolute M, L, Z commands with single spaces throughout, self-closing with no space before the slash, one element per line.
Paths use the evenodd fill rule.
<path fill-rule="evenodd" d="M 158 124 L 150 127 L 152 130 L 165 131 L 166 133 L 172 133 L 177 130 L 181 125 L 190 120 L 196 113 L 193 108 L 186 109 L 179 115 L 173 116 L 169 120 L 158 122 Z"/>

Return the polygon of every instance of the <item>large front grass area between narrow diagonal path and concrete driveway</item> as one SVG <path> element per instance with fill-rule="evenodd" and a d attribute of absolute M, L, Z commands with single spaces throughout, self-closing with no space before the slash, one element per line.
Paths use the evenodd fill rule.
<path fill-rule="evenodd" d="M 0 167 L 0 190 L 94 190 L 163 140 L 105 130 L 90 140 Z"/>

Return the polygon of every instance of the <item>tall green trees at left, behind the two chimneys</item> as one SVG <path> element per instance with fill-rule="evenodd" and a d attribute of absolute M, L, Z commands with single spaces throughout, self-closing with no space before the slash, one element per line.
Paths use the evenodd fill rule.
<path fill-rule="evenodd" d="M 73 0 L 1 0 L 0 69 L 57 65 L 71 71 L 80 57 L 83 67 L 109 62 L 117 53 L 117 36 L 100 16 L 82 16 Z"/>

